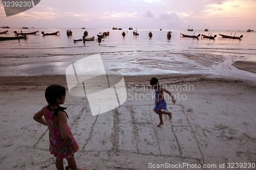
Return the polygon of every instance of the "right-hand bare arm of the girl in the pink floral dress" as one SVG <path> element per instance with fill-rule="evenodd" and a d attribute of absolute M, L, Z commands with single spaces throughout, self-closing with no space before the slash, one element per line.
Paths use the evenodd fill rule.
<path fill-rule="evenodd" d="M 63 140 L 63 147 L 67 147 L 68 144 L 73 140 L 72 137 L 68 133 L 68 123 L 67 123 L 67 115 L 63 111 L 58 111 L 59 118 L 59 129 L 60 129 L 60 137 Z"/>

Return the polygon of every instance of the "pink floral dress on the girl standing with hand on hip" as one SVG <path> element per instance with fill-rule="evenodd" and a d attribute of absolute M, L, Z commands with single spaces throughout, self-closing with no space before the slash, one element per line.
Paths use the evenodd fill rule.
<path fill-rule="evenodd" d="M 69 135 L 73 138 L 73 140 L 71 141 L 70 145 L 67 148 L 62 147 L 63 139 L 61 139 L 60 137 L 60 128 L 57 125 L 54 117 L 58 115 L 58 110 L 64 111 L 63 109 L 66 109 L 66 108 L 58 107 L 57 109 L 51 109 L 50 106 L 48 105 L 47 107 L 45 107 L 45 111 L 44 111 L 44 117 L 46 119 L 47 126 L 49 129 L 50 153 L 53 154 L 54 157 L 58 159 L 71 158 L 72 155 L 74 155 L 74 153 L 79 148 L 75 138 L 73 137 L 73 134 L 71 132 L 69 125 L 67 125 L 67 130 Z"/>

